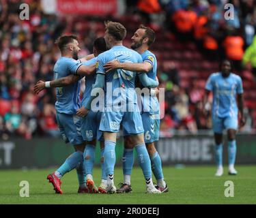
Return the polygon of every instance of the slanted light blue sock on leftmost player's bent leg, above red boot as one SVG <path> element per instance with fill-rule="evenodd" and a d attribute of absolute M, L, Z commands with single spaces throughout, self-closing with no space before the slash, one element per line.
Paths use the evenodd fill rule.
<path fill-rule="evenodd" d="M 66 161 L 57 169 L 57 172 L 63 176 L 67 172 L 70 172 L 70 170 L 73 170 L 74 168 L 79 166 L 79 163 L 83 162 L 83 153 L 81 151 L 76 151 L 70 155 Z"/>

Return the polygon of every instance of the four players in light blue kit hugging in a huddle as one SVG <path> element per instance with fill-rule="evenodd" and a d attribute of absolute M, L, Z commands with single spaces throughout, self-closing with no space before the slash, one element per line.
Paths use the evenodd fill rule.
<path fill-rule="evenodd" d="M 55 193 L 63 193 L 61 177 L 76 168 L 79 193 L 131 192 L 133 150 L 136 149 L 145 177 L 146 193 L 167 192 L 161 159 L 154 146 L 159 138 L 160 108 L 155 89 L 158 87 L 157 62 L 148 48 L 155 41 L 155 33 L 149 27 L 140 26 L 132 36 L 132 49 L 129 49 L 122 45 L 126 37 L 126 28 L 122 24 L 105 22 L 105 30 L 104 37 L 94 42 L 94 55 L 83 59 L 78 59 L 80 48 L 76 36 L 59 37 L 57 46 L 61 57 L 53 69 L 55 80 L 40 80 L 35 84 L 35 93 L 57 87 L 57 123 L 63 139 L 75 150 L 47 179 L 53 184 Z M 83 76 L 85 92 L 80 102 Z M 139 98 L 135 91 L 137 78 L 145 90 Z M 116 189 L 115 144 L 120 128 L 124 136 L 124 183 Z M 93 178 L 96 141 L 100 141 L 102 168 L 98 188 Z"/>

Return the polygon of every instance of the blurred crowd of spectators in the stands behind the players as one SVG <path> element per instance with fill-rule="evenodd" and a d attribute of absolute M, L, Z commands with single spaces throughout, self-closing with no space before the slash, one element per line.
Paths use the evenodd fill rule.
<path fill-rule="evenodd" d="M 59 58 L 55 46 L 59 35 L 78 35 L 83 57 L 92 52 L 94 39 L 104 34 L 103 20 L 108 18 L 44 14 L 40 1 L 29 1 L 30 20 L 20 20 L 17 14 L 22 2 L 0 3 L 0 135 L 27 139 L 38 135 L 58 137 L 55 90 L 47 89 L 35 95 L 33 85 L 39 79 L 52 80 L 53 66 Z M 140 14 L 145 25 L 153 28 L 154 16 L 158 13 L 160 20 L 164 14 L 161 25 L 165 27 L 160 28 L 169 28 L 181 40 L 193 40 L 201 52 L 213 54 L 210 57 L 214 59 L 231 59 L 238 71 L 251 67 L 256 78 L 255 1 L 150 2 L 149 5 L 143 0 L 127 1 L 126 10 Z M 224 19 L 225 3 L 234 5 L 233 20 Z M 196 79 L 190 89 L 181 87 L 179 69 L 174 63 L 162 66 L 158 78 L 160 87 L 166 90 L 165 118 L 160 125 L 163 132 L 188 129 L 197 133 L 198 129 L 211 128 L 210 116 L 202 115 L 203 93 L 197 89 Z M 247 129 L 253 126 L 251 113 L 251 110 L 247 112 Z"/>

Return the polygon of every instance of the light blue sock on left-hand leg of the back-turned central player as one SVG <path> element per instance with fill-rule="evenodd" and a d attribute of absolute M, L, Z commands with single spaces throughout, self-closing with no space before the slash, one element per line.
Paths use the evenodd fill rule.
<path fill-rule="evenodd" d="M 105 141 L 105 148 L 104 148 L 104 164 L 106 174 L 114 174 L 115 168 L 115 142 L 112 141 Z"/>

